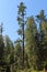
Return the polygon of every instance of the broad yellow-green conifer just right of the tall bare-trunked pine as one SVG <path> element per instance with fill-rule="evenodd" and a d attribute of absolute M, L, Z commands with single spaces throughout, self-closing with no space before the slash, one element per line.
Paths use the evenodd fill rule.
<path fill-rule="evenodd" d="M 36 23 L 33 17 L 30 17 L 26 21 L 26 51 L 28 53 L 30 66 L 35 65 L 35 34 L 37 32 Z"/>

